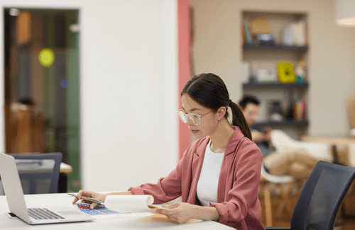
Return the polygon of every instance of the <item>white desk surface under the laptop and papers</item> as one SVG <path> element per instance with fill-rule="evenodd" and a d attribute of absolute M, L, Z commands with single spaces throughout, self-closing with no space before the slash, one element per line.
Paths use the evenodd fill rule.
<path fill-rule="evenodd" d="M 57 207 L 71 206 L 72 197 L 64 193 L 45 194 L 45 195 L 25 195 L 27 207 L 50 207 L 55 205 Z M 52 206 L 53 206 L 52 205 Z M 219 224 L 212 221 L 196 220 L 185 224 L 174 224 L 168 219 L 158 217 L 113 217 L 95 219 L 92 222 L 77 222 L 67 224 L 41 224 L 41 225 L 28 225 L 21 219 L 9 219 L 4 214 L 9 212 L 9 207 L 4 195 L 0 196 L 0 229 L 65 229 L 65 230 L 97 230 L 97 229 L 120 229 L 120 230 L 133 230 L 133 229 L 214 229 L 224 230 L 233 229 L 224 224 Z"/>

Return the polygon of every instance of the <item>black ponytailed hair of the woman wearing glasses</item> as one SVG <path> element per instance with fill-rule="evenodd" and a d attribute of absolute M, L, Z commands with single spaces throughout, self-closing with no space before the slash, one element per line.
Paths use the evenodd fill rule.
<path fill-rule="evenodd" d="M 224 81 L 216 74 L 199 74 L 192 76 L 182 89 L 181 96 L 187 93 L 200 105 L 210 108 L 214 113 L 222 106 L 231 108 L 232 124 L 238 126 L 245 137 L 251 139 L 251 131 L 239 105 L 229 99 Z M 224 117 L 228 117 L 228 111 Z"/>

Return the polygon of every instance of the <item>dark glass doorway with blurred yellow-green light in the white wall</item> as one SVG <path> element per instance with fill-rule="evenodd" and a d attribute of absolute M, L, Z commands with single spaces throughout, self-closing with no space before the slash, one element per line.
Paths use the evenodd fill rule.
<path fill-rule="evenodd" d="M 7 153 L 61 152 L 80 190 L 78 10 L 4 8 Z"/>

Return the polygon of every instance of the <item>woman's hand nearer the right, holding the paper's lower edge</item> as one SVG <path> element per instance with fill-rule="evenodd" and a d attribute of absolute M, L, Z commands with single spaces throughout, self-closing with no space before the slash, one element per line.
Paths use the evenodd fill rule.
<path fill-rule="evenodd" d="M 194 218 L 195 206 L 189 203 L 174 203 L 173 205 L 162 205 L 166 209 L 157 209 L 156 212 L 167 216 L 176 224 L 184 224 Z"/>

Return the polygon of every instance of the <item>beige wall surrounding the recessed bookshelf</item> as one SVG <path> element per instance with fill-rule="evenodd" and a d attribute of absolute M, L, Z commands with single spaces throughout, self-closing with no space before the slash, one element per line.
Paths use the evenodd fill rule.
<path fill-rule="evenodd" d="M 346 98 L 355 93 L 355 28 L 334 23 L 334 0 L 190 0 L 195 11 L 195 72 L 224 79 L 231 99 L 241 88 L 241 11 L 300 11 L 309 16 L 308 134 L 349 133 Z"/>

